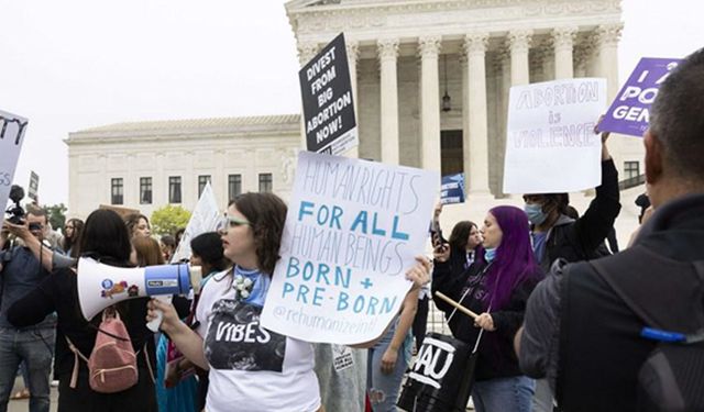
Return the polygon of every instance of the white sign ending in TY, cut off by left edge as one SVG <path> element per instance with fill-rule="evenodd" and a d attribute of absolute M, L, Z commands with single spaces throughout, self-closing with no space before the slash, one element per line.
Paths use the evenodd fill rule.
<path fill-rule="evenodd" d="M 0 110 L 0 207 L 7 210 L 28 120 Z"/>

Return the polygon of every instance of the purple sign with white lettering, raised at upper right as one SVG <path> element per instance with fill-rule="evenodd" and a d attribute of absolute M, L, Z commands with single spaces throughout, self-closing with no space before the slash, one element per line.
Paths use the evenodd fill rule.
<path fill-rule="evenodd" d="M 642 57 L 600 124 L 601 132 L 642 136 L 660 85 L 681 59 Z"/>

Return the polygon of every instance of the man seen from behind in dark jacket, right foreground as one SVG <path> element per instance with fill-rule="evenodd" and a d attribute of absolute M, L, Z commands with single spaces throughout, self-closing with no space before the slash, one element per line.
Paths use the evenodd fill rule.
<path fill-rule="evenodd" d="M 635 411 L 637 375 L 656 342 L 645 326 L 704 327 L 704 49 L 674 69 L 644 136 L 656 208 L 634 247 L 596 263 L 558 265 L 534 291 L 516 336 L 522 370 L 547 376 L 563 411 Z M 598 270 L 597 270 L 598 267 Z"/>

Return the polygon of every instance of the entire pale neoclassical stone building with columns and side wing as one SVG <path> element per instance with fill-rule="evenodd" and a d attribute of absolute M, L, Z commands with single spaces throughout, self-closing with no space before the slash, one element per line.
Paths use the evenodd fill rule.
<path fill-rule="evenodd" d="M 448 208 L 448 221 L 481 221 L 499 201 L 519 203 L 502 192 L 512 86 L 604 77 L 609 98 L 620 86 L 619 0 L 293 0 L 285 8 L 301 65 L 345 34 L 360 127 L 360 146 L 348 155 L 466 174 L 470 201 Z M 233 176 L 241 190 L 272 188 L 287 197 L 300 132 L 293 115 L 72 133 L 70 212 L 117 200 L 114 179 L 123 179 L 123 204 L 146 213 L 174 200 L 177 177 L 186 208 L 207 176 L 223 203 Z M 640 140 L 614 136 L 609 148 L 622 179 L 641 174 Z M 150 204 L 140 203 L 143 178 L 152 179 Z M 635 219 L 625 194 L 626 219 Z M 573 197 L 581 211 L 587 201 Z"/>

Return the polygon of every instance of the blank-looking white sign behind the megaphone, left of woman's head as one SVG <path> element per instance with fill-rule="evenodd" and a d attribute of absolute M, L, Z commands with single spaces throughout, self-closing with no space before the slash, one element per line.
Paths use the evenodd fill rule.
<path fill-rule="evenodd" d="M 190 241 L 201 233 L 217 231 L 220 218 L 222 218 L 222 213 L 220 213 L 218 201 L 210 187 L 210 181 L 208 181 L 202 189 L 202 193 L 200 193 L 194 213 L 190 215 L 180 243 L 176 247 L 174 256 L 172 256 L 172 263 L 190 258 Z"/>

